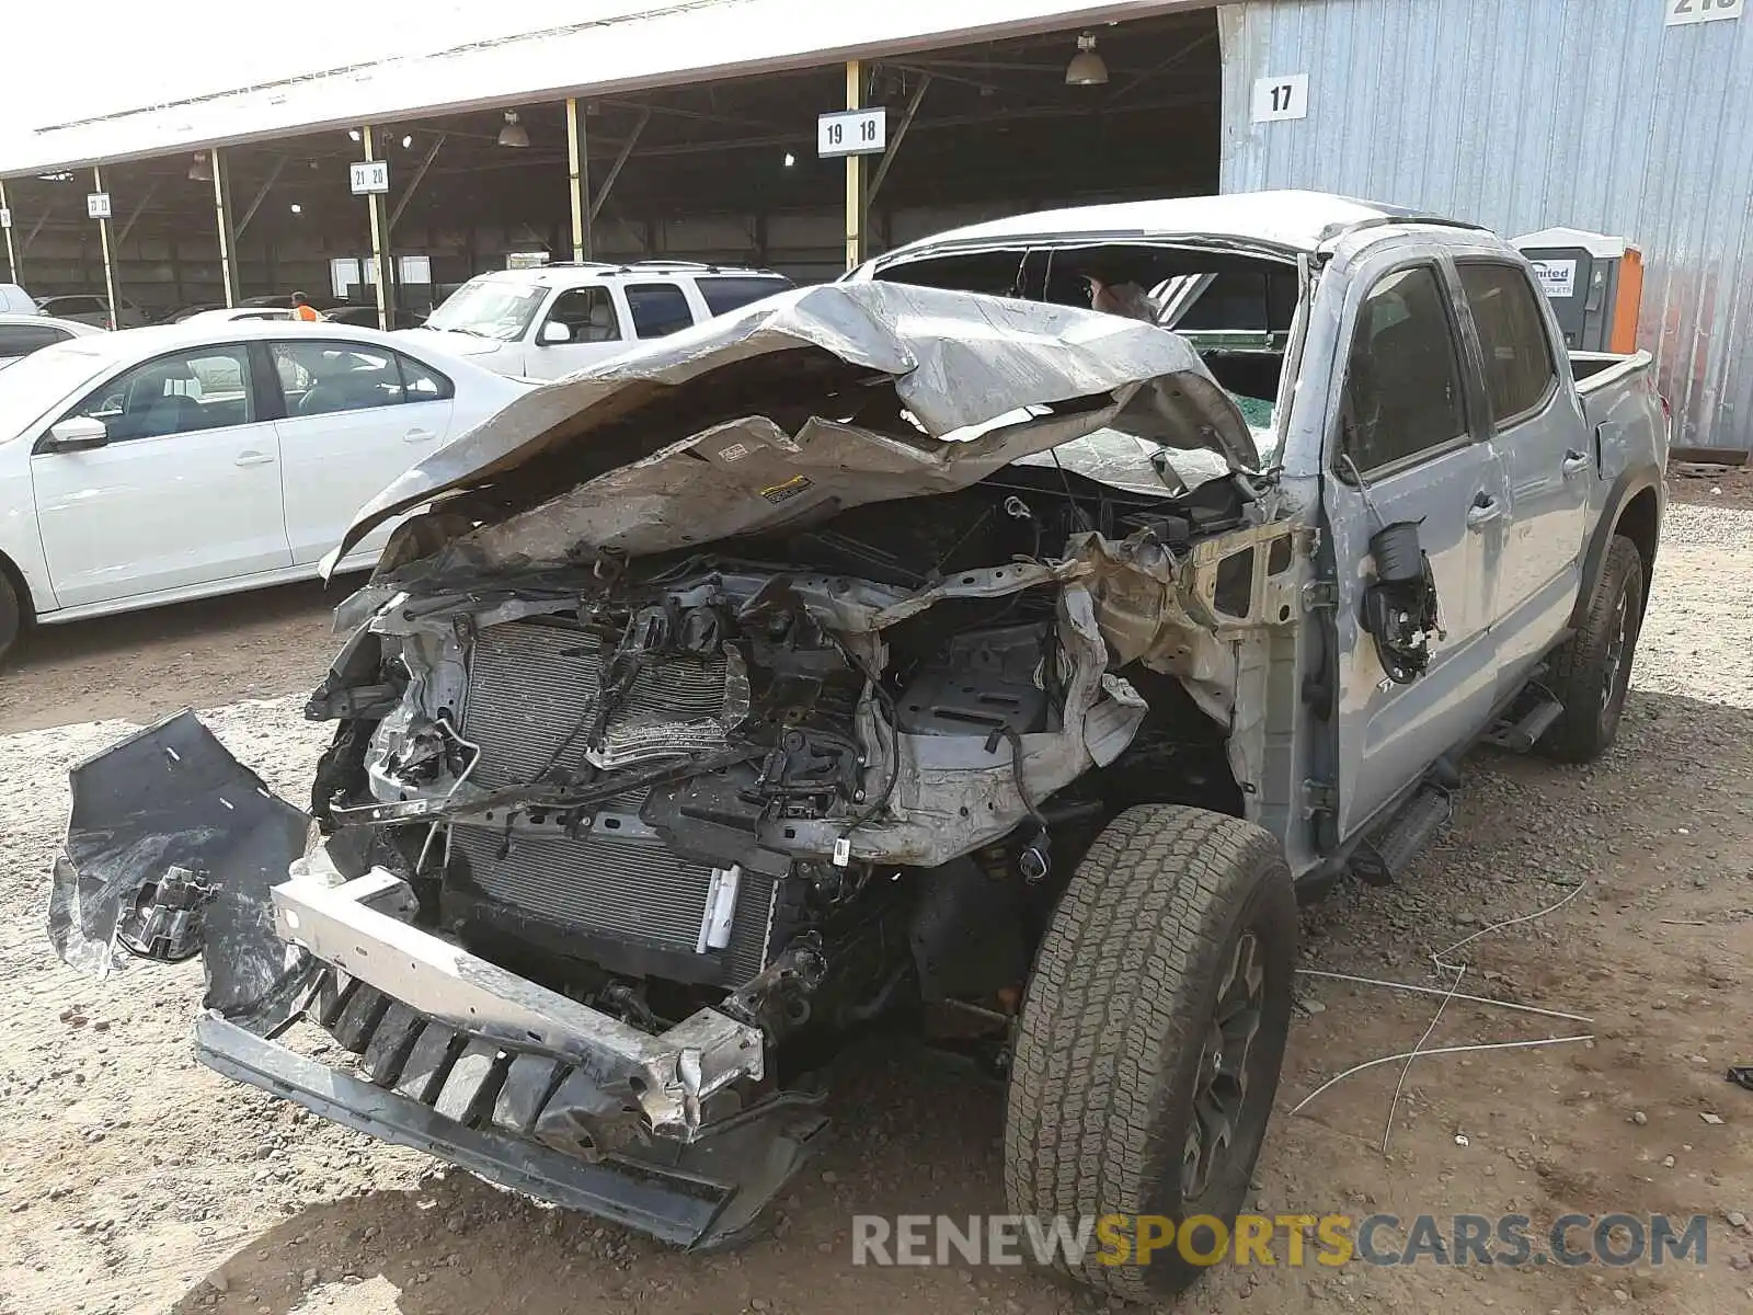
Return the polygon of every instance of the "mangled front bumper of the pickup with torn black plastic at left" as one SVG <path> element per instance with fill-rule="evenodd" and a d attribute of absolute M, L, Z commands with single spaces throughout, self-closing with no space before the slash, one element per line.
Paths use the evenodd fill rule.
<path fill-rule="evenodd" d="M 345 880 L 317 850 L 284 877 L 302 822 L 191 714 L 138 731 L 74 771 L 51 936 L 103 970 L 116 929 L 160 926 L 174 891 L 179 943 L 203 940 L 209 1068 L 675 1245 L 750 1231 L 826 1126 L 819 1096 L 764 1080 L 757 1027 L 699 1010 L 650 1034 L 403 920 L 415 901 L 387 871 Z M 356 1061 L 273 1040 L 300 1017 Z"/>

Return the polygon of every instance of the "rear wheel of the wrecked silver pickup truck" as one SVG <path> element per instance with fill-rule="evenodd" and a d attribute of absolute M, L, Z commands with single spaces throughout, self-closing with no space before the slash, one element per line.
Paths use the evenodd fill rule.
<path fill-rule="evenodd" d="M 1615 535 L 1588 600 L 1588 617 L 1551 659 L 1548 686 L 1553 698 L 1564 703 L 1564 715 L 1541 736 L 1543 754 L 1560 763 L 1588 763 L 1613 743 L 1632 677 L 1643 608 L 1643 558 L 1636 544 Z"/>

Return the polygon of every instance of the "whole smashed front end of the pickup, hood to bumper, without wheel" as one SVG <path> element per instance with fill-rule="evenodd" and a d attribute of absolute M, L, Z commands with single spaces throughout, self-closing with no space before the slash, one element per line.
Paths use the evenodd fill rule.
<path fill-rule="evenodd" d="M 95 840 L 58 870 L 58 945 L 114 943 L 93 910 L 119 898 L 189 952 L 191 891 L 209 924 L 242 901 L 240 963 L 207 940 L 207 1063 L 489 1176 L 514 1147 L 549 1199 L 731 1233 L 820 1124 L 794 1085 L 819 1041 L 941 1008 L 1003 1068 L 1103 824 L 1259 810 L 1311 538 L 1255 466 L 1173 333 L 899 284 L 535 389 L 337 549 L 415 512 L 307 707 L 337 722 L 324 843 L 272 894 L 296 854 L 251 845 L 228 885 L 210 807 L 167 821 L 142 784 L 158 812 L 81 824 L 75 784 Z M 142 735 L 116 778 L 224 756 Z M 175 833 L 153 843 L 186 877 L 130 875 L 130 828 Z M 259 1040 L 302 1010 L 363 1056 L 345 1099 Z M 586 1191 L 605 1159 L 682 1185 Z"/>

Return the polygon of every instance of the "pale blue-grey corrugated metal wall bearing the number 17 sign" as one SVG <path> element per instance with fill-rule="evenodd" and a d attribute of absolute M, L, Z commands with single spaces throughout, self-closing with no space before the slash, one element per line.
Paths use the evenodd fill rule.
<path fill-rule="evenodd" d="M 1622 233 L 1676 442 L 1753 449 L 1753 16 L 1669 28 L 1671 4 L 1224 5 L 1224 191 Z M 1308 117 L 1252 123 L 1253 81 L 1288 74 Z"/>

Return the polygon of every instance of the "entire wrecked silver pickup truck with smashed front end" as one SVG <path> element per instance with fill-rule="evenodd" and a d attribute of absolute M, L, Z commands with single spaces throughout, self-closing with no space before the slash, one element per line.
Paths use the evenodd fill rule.
<path fill-rule="evenodd" d="M 684 1245 L 798 1168 L 824 1043 L 941 1015 L 1008 1077 L 1013 1210 L 1232 1219 L 1297 884 L 1392 878 L 1481 736 L 1613 738 L 1665 423 L 1648 358 L 1557 342 L 1488 233 L 1322 196 L 1033 216 L 677 333 L 359 514 L 337 554 L 415 512 L 337 612 L 309 817 L 189 714 L 77 768 L 51 936 L 202 952 L 203 1063 Z"/>

